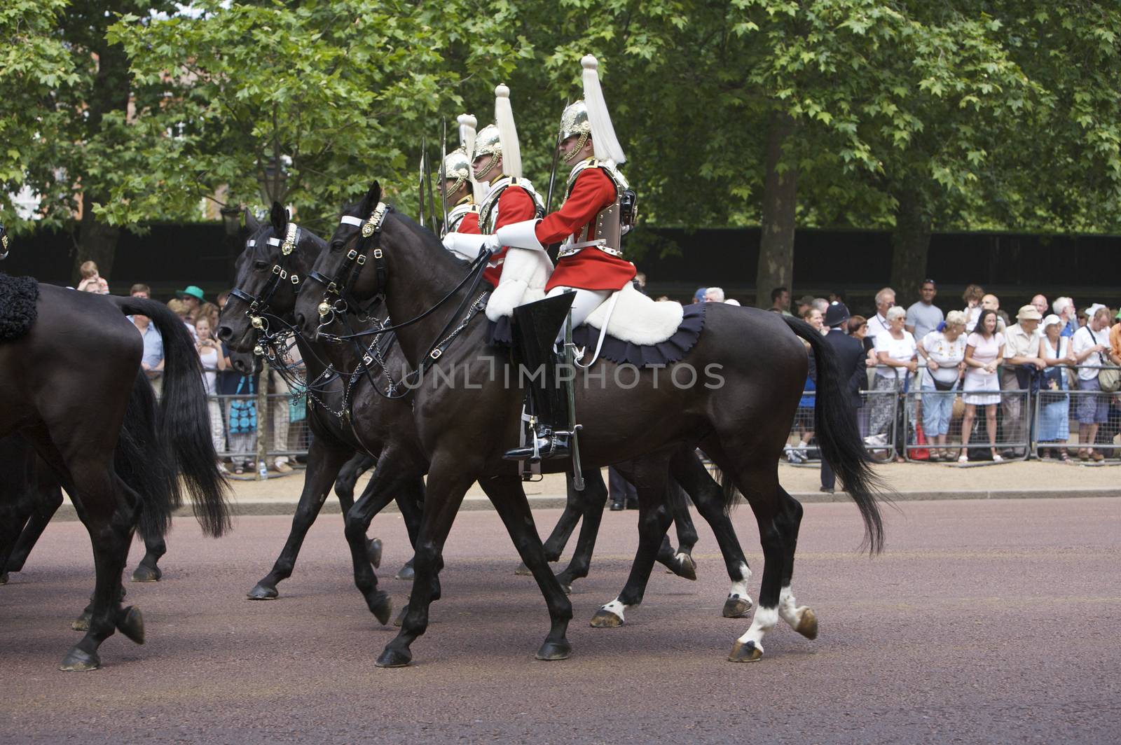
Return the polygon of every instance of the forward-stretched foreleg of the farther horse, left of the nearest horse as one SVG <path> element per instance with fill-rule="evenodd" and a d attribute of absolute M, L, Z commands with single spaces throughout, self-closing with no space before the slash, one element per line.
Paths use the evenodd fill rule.
<path fill-rule="evenodd" d="M 249 590 L 249 599 L 271 600 L 279 595 L 277 584 L 291 577 L 304 538 L 318 516 L 319 509 L 331 492 L 331 485 L 339 475 L 339 468 L 348 457 L 350 451 L 346 448 L 328 445 L 325 436 L 317 436 L 312 440 L 307 451 L 307 469 L 304 472 L 304 491 L 299 494 L 296 514 L 291 518 L 288 540 L 285 541 L 280 556 L 277 557 L 269 574 Z"/>

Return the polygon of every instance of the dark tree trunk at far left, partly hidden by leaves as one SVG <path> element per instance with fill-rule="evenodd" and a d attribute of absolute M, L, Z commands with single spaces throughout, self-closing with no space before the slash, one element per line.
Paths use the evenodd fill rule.
<path fill-rule="evenodd" d="M 104 13 L 102 13 L 104 15 Z M 92 35 L 91 48 L 98 57 L 98 73 L 93 81 L 86 110 L 86 139 L 102 134 L 103 117 L 112 111 L 127 112 L 131 93 L 129 59 L 120 45 L 104 43 L 103 18 L 98 18 Z M 89 30 L 89 29 L 85 29 Z M 78 225 L 77 251 L 74 253 L 73 276 L 75 286 L 81 280 L 78 267 L 85 261 L 94 261 L 99 273 L 110 279 L 113 259 L 117 254 L 117 239 L 120 229 L 102 222 L 93 212 L 95 203 L 104 203 L 109 195 L 98 188 L 94 179 L 82 179 L 82 222 Z"/>

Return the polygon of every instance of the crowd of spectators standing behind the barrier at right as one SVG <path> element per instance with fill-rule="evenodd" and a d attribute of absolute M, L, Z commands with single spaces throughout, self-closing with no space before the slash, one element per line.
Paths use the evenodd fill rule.
<path fill-rule="evenodd" d="M 896 291 L 884 287 L 873 298 L 874 314 L 846 323 L 847 334 L 868 352 L 861 419 L 870 448 L 890 449 L 893 431 L 899 459 L 907 446 L 917 449 L 916 436 L 925 440 L 923 457 L 930 460 L 1020 458 L 1032 441 L 1040 458 L 1099 462 L 1121 455 L 1115 441 L 1121 430 L 1118 309 L 1095 302 L 1078 311 L 1069 297 L 1048 302 L 1037 294 L 1011 317 L 1000 298 L 970 285 L 961 310 L 944 313 L 936 281 L 923 280 L 916 290 L 917 300 L 904 309 L 896 305 Z M 804 296 L 795 302 L 796 315 L 825 332 L 824 309 L 837 297 Z M 770 299 L 769 310 L 789 314 L 787 288 L 776 288 Z M 814 390 L 812 380 L 806 390 Z M 812 419 L 804 416 L 809 407 L 812 400 L 804 398 L 787 451 L 795 463 L 805 460 L 807 434 L 813 435 Z M 902 407 L 908 407 L 909 432 L 901 431 Z M 1072 420 L 1076 449 L 1067 447 Z M 961 441 L 954 447 L 951 425 L 956 421 Z"/>

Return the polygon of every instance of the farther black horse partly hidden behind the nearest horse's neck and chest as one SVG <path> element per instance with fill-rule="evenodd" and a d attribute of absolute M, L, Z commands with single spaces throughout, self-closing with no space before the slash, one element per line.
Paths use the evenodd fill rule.
<path fill-rule="evenodd" d="M 293 227 L 290 246 L 286 245 L 289 225 Z M 306 280 L 315 258 L 326 248 L 323 239 L 314 233 L 306 230 L 297 232 L 279 204 L 274 204 L 268 224 L 260 225 L 247 215 L 247 227 L 251 235 L 238 259 L 237 287 L 222 310 L 217 328 L 219 338 L 231 350 L 234 367 L 242 372 L 250 371 L 254 365 L 253 350 L 263 342 L 263 337 L 276 337 L 290 327 L 299 283 Z M 336 493 L 346 520 L 354 583 L 370 612 L 381 623 L 387 623 L 392 602 L 386 592 L 378 588 L 365 531 L 373 515 L 396 499 L 409 539 L 416 540 L 427 465 L 415 436 L 409 437 L 414 431 L 411 412 L 406 403 L 385 402 L 372 390 L 367 374 L 353 374 L 360 370 L 363 355 L 308 344 L 299 335 L 296 343 L 307 370 L 308 426 L 314 437 L 307 454 L 304 490 L 288 540 L 272 569 L 249 592 L 249 597 L 277 597 L 277 583 L 291 576 L 304 538 L 318 515 L 331 485 L 339 479 L 340 469 L 355 451 L 370 454 L 377 457 L 378 465 L 358 502 L 351 501 L 353 492 L 345 488 L 336 490 Z M 373 350 L 373 354 L 386 355 L 386 371 L 390 376 L 404 374 L 405 361 L 396 345 L 385 351 Z M 336 366 L 328 364 L 332 358 Z M 374 376 L 381 372 L 374 366 L 369 374 Z M 354 465 L 361 465 L 361 460 Z M 350 483 L 349 478 L 345 483 Z M 408 574 L 409 569 L 404 571 Z"/>

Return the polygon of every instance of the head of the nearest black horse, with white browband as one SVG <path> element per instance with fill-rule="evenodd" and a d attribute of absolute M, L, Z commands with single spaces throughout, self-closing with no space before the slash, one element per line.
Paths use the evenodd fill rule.
<path fill-rule="evenodd" d="M 328 249 L 308 273 L 313 283 L 296 300 L 296 325 L 308 338 L 385 289 L 380 241 L 388 212 L 377 181 L 362 199 L 343 209 Z"/>

